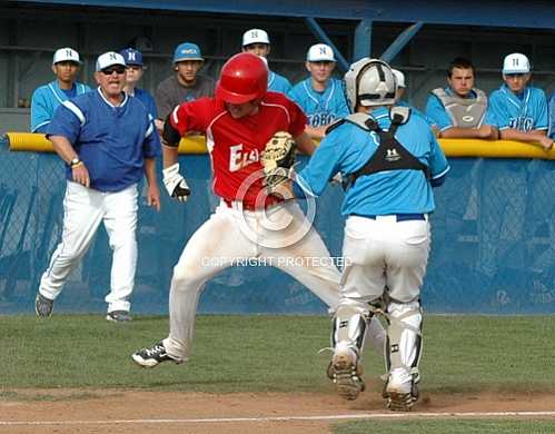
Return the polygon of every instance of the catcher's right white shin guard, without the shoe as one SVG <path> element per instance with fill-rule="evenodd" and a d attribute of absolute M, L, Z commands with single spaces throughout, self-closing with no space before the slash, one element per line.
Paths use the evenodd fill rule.
<path fill-rule="evenodd" d="M 410 303 L 389 302 L 389 327 L 386 341 L 386 369 L 418 381 L 418 364 L 422 357 L 422 308 L 419 300 Z"/>

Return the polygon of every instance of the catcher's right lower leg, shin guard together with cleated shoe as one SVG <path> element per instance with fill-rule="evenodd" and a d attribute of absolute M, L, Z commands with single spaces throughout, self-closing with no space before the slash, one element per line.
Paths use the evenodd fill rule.
<path fill-rule="evenodd" d="M 383 396 L 393 411 L 409 411 L 418 400 L 422 357 L 422 309 L 419 302 L 390 303 L 386 342 L 387 383 Z"/>

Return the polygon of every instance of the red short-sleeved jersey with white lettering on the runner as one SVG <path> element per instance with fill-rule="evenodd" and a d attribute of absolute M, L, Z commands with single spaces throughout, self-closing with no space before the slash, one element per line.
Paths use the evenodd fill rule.
<path fill-rule="evenodd" d="M 257 114 L 239 119 L 234 119 L 217 98 L 184 102 L 170 119 L 181 136 L 187 131 L 206 131 L 216 195 L 256 207 L 265 200 L 260 154 L 266 142 L 277 131 L 297 137 L 307 122 L 299 106 L 278 92 L 268 92 Z"/>

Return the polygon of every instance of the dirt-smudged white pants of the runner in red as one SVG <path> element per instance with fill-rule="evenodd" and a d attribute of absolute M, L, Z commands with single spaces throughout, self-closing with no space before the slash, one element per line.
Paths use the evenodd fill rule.
<path fill-rule="evenodd" d="M 265 213 L 272 228 L 265 223 Z M 239 260 L 257 258 L 284 270 L 335 309 L 339 303 L 340 274 L 320 236 L 308 225 L 306 235 L 291 243 L 296 239 L 293 235 L 307 221 L 295 201 L 255 211 L 241 210 L 236 203 L 231 207 L 220 203 L 189 239 L 174 268 L 169 296 L 170 333 L 163 341 L 168 354 L 187 359 L 205 283 Z"/>

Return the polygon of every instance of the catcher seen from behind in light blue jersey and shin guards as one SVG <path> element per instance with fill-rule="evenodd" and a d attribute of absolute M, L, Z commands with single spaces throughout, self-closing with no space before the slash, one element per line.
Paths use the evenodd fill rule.
<path fill-rule="evenodd" d="M 347 400 L 364 389 L 366 325 L 384 306 L 390 324 L 384 397 L 389 408 L 406 411 L 418 398 L 420 288 L 430 245 L 428 215 L 435 207 L 432 187 L 443 184 L 449 166 L 427 121 L 407 107 L 394 106 L 396 82 L 387 63 L 361 59 L 351 65 L 345 85 L 354 114 L 328 128 L 295 185 L 297 196 L 319 196 L 335 174 L 345 180 L 347 265 L 333 322 L 328 376 Z"/>

